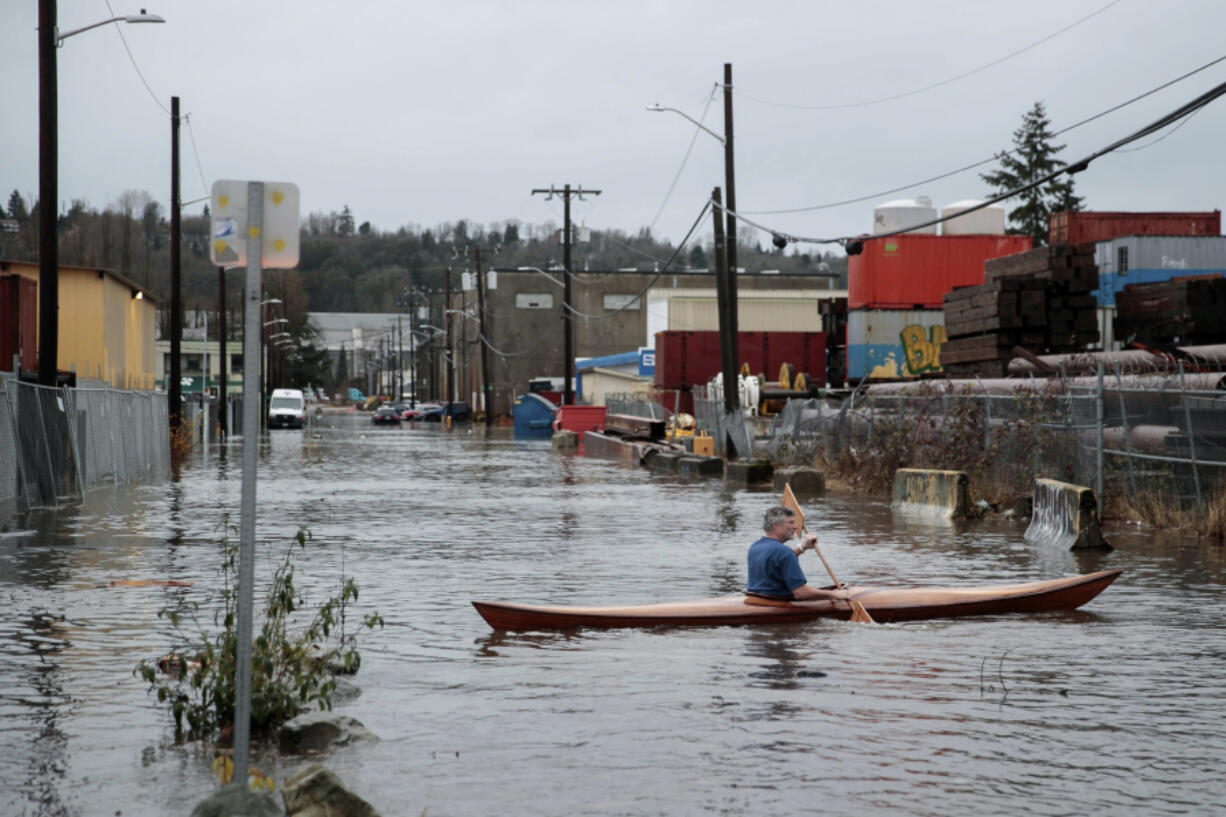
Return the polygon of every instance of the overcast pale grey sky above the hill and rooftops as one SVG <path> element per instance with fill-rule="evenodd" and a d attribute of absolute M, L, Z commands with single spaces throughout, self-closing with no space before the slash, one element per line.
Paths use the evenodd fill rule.
<path fill-rule="evenodd" d="M 576 221 L 628 232 L 655 224 L 679 240 L 723 184 L 722 148 L 699 132 L 667 196 L 695 129 L 645 107 L 700 117 L 726 61 L 738 206 L 767 211 L 870 195 L 988 158 L 1010 146 L 1037 99 L 1059 130 L 1226 55 L 1219 0 L 109 4 L 61 0 L 60 28 L 140 4 L 167 22 L 121 26 L 132 59 L 120 26 L 59 49 L 61 202 L 102 207 L 135 189 L 166 204 L 167 112 L 178 96 L 190 115 L 185 201 L 218 178 L 289 180 L 303 215 L 348 205 L 379 229 L 560 222 L 559 201 L 530 194 L 570 183 L 603 190 L 575 204 Z M 0 2 L 4 202 L 12 189 L 38 190 L 37 9 L 37 0 Z M 1073 130 L 1060 157 L 1089 153 L 1224 81 L 1226 61 Z M 722 132 L 722 98 L 706 123 Z M 1220 209 L 1224 125 L 1226 99 L 1149 147 L 1095 162 L 1076 177 L 1078 193 L 1094 210 Z M 753 218 L 798 236 L 843 236 L 869 231 L 873 205 L 888 199 L 928 195 L 940 206 L 984 194 L 967 172 L 862 204 Z"/>

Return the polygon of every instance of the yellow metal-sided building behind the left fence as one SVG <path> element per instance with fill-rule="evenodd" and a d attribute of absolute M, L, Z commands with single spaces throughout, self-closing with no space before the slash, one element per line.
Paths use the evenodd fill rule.
<path fill-rule="evenodd" d="M 0 261 L 0 274 L 38 282 L 38 264 Z M 157 301 L 113 270 L 60 266 L 56 368 L 118 389 L 152 389 Z M 36 318 L 37 320 L 37 318 Z"/>

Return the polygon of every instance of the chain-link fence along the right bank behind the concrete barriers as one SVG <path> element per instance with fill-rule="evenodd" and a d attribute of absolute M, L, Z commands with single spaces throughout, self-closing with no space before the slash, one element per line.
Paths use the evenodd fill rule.
<path fill-rule="evenodd" d="M 1226 378 L 1182 372 L 870 386 L 788 401 L 745 422 L 777 464 L 820 464 L 885 488 L 897 467 L 967 471 L 981 496 L 1025 494 L 1035 477 L 1204 504 L 1226 483 Z M 699 426 L 717 428 L 718 406 Z"/>

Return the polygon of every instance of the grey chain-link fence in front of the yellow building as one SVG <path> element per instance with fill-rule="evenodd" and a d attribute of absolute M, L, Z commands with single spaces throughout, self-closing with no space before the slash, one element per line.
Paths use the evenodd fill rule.
<path fill-rule="evenodd" d="M 166 478 L 166 395 L 104 386 L 0 388 L 0 503 L 49 508 L 102 485 Z"/>

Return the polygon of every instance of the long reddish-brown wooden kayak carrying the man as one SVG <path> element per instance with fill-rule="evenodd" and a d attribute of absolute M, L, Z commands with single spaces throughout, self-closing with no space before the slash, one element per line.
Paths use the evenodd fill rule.
<path fill-rule="evenodd" d="M 851 595 L 874 621 L 920 621 L 954 616 L 992 616 L 1074 610 L 1116 580 L 1119 570 L 1048 581 L 986 588 L 852 586 Z M 573 627 L 716 627 L 851 618 L 842 600 L 775 601 L 745 595 L 623 607 L 560 607 L 473 601 L 494 629 L 568 629 Z"/>

